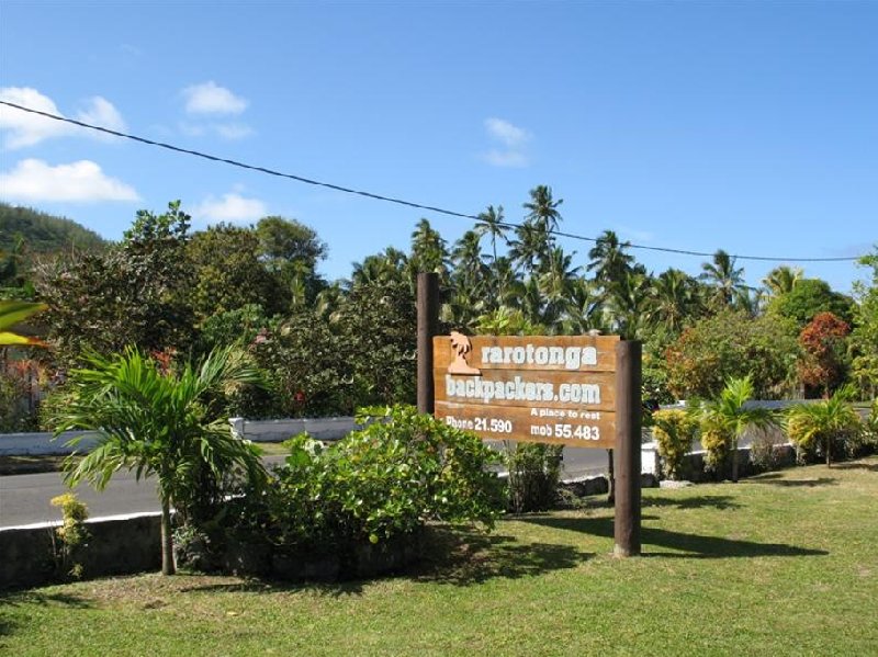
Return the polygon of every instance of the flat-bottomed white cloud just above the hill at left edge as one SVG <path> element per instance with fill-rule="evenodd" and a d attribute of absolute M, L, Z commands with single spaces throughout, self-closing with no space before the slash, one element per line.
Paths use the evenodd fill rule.
<path fill-rule="evenodd" d="M 139 201 L 134 188 L 105 175 L 91 160 L 57 167 L 37 159 L 22 160 L 0 173 L 0 196 L 29 202 Z"/>

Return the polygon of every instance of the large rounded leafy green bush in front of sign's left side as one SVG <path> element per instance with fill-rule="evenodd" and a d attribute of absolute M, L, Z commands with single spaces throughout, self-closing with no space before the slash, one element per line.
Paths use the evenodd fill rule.
<path fill-rule="evenodd" d="M 364 424 L 324 448 L 307 435 L 264 496 L 238 500 L 238 532 L 300 552 L 346 554 L 416 534 L 429 521 L 493 526 L 503 510 L 497 456 L 473 433 L 415 408 L 362 409 Z"/>

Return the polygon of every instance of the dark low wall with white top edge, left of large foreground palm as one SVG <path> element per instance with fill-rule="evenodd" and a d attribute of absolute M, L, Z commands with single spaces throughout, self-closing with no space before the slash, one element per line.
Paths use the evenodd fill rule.
<path fill-rule="evenodd" d="M 59 524 L 0 529 L 0 590 L 57 580 L 52 537 Z M 99 518 L 86 521 L 86 526 L 91 537 L 78 557 L 85 579 L 161 568 L 158 513 Z"/>

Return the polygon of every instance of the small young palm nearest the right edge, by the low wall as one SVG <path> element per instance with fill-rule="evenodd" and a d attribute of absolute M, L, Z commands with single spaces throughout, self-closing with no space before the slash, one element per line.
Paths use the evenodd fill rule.
<path fill-rule="evenodd" d="M 851 405 L 854 388 L 843 386 L 832 397 L 817 404 L 798 404 L 787 411 L 787 434 L 801 448 L 822 443 L 826 467 L 832 466 L 832 442 L 859 426 L 859 416 Z"/>

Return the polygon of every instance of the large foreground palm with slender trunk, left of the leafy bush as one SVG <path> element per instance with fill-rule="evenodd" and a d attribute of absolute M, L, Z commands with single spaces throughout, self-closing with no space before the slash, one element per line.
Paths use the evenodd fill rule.
<path fill-rule="evenodd" d="M 161 573 L 173 575 L 171 505 L 192 502 L 203 477 L 214 482 L 241 467 L 254 483 L 264 468 L 259 452 L 236 438 L 211 404 L 217 393 L 244 384 L 263 385 L 258 369 L 232 348 L 214 350 L 200 366 L 162 371 L 134 348 L 74 370 L 71 399 L 54 418 L 55 434 L 72 429 L 99 432 L 98 446 L 79 462 L 65 463 L 65 482 L 89 482 L 102 490 L 120 468 L 139 480 L 156 476 L 161 502 Z M 75 445 L 80 439 L 68 444 Z"/>

